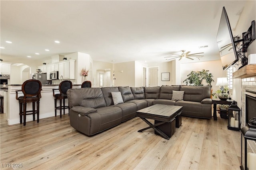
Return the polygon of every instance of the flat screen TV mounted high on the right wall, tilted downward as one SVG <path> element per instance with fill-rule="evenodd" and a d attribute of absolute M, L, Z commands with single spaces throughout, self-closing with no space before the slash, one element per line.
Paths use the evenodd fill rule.
<path fill-rule="evenodd" d="M 220 25 L 217 33 L 217 44 L 220 53 L 220 60 L 223 70 L 226 70 L 231 65 L 238 61 L 236 46 L 234 43 L 233 34 L 231 31 L 228 15 L 225 7 L 222 9 Z"/>

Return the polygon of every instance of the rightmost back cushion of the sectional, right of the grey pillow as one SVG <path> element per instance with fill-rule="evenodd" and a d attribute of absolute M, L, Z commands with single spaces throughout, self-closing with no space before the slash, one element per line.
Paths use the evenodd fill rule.
<path fill-rule="evenodd" d="M 211 98 L 210 86 L 180 86 L 180 91 L 184 91 L 184 101 L 201 102 Z"/>

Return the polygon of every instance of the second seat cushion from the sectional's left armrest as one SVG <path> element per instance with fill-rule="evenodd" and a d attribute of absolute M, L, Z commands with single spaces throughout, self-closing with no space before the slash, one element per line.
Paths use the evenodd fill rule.
<path fill-rule="evenodd" d="M 126 121 L 136 116 L 137 105 L 132 102 L 125 102 L 122 104 L 111 105 L 122 109 L 122 121 Z"/>

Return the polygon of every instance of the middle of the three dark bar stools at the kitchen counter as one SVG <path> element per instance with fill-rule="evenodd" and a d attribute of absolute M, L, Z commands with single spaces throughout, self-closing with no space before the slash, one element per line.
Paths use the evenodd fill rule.
<path fill-rule="evenodd" d="M 65 109 L 68 109 L 69 114 L 69 106 L 65 106 L 65 99 L 68 98 L 67 90 L 72 88 L 72 82 L 69 80 L 64 80 L 60 83 L 59 88 L 52 89 L 53 97 L 54 97 L 54 106 L 55 106 L 55 117 L 57 116 L 57 109 L 60 110 L 60 117 L 62 117 L 61 111 L 63 109 L 63 114 L 65 114 Z M 55 91 L 58 90 L 60 93 L 55 94 Z M 62 106 L 63 99 L 63 106 Z M 60 106 L 57 106 L 57 100 L 60 100 Z"/>

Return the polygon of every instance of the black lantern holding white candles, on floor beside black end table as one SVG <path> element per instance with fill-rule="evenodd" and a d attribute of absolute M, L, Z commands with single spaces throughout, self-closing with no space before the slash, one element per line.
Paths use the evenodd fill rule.
<path fill-rule="evenodd" d="M 240 131 L 240 111 L 237 102 L 233 101 L 228 107 L 228 129 Z"/>

